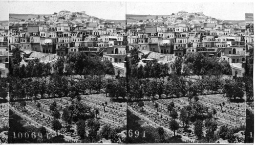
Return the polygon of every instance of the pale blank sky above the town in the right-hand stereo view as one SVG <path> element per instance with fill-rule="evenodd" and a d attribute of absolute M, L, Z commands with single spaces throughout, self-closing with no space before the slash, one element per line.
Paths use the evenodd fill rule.
<path fill-rule="evenodd" d="M 169 15 L 178 11 L 203 12 L 206 16 L 225 20 L 244 20 L 253 13 L 252 3 L 127 3 L 127 14 Z"/>

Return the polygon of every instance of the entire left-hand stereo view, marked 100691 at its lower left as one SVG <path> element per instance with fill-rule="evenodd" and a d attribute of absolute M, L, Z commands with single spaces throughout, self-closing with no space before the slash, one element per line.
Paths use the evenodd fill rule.
<path fill-rule="evenodd" d="M 8 42 L 9 143 L 125 141 L 125 3 L 10 1 Z"/>

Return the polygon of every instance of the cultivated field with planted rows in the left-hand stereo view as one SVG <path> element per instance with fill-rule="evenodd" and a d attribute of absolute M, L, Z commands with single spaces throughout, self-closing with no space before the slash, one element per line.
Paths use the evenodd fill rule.
<path fill-rule="evenodd" d="M 62 114 L 63 108 L 72 104 L 70 98 L 66 97 L 61 99 L 42 99 L 36 102 L 27 101 L 27 105 L 25 107 L 26 112 L 24 112 L 24 108 L 17 102 L 13 103 L 11 107 L 15 110 L 16 113 L 30 122 L 33 126 L 44 126 L 48 132 L 55 134 L 51 128 L 51 120 L 53 120 L 53 116 L 51 115 L 52 113 L 50 110 L 50 105 L 54 101 L 57 103 L 56 108 L 60 110 L 60 114 Z M 36 107 L 37 102 L 41 104 L 40 111 L 39 108 Z M 126 125 L 126 103 L 112 102 L 110 98 L 105 97 L 105 94 L 82 95 L 80 102 L 89 107 L 92 107 L 91 111 L 94 111 L 96 108 L 99 109 L 97 118 L 100 122 L 101 128 L 107 124 L 112 128 Z M 108 105 L 105 105 L 106 107 L 104 112 L 102 103 L 105 102 L 107 102 Z M 59 122 L 62 124 L 62 129 L 59 131 L 59 134 L 64 135 L 66 140 L 77 141 L 79 139 L 79 136 L 76 133 L 76 125 L 74 123 L 72 124 L 71 128 L 71 130 L 74 130 L 74 132 L 71 133 L 66 131 L 67 129 L 65 128 L 65 123 L 63 120 L 59 119 Z"/>

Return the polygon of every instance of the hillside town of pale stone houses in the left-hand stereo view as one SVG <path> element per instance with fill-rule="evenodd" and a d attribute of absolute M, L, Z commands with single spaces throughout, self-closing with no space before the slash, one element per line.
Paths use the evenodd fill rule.
<path fill-rule="evenodd" d="M 8 49 L 18 47 L 58 56 L 81 51 L 123 63 L 126 38 L 125 23 L 98 19 L 84 11 L 63 10 L 50 16 L 10 22 Z"/>

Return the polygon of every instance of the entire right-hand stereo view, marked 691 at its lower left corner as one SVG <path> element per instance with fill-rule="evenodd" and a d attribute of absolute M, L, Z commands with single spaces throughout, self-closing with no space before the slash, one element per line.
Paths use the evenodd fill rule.
<path fill-rule="evenodd" d="M 253 142 L 252 3 L 127 2 L 126 33 L 127 143 Z"/>

